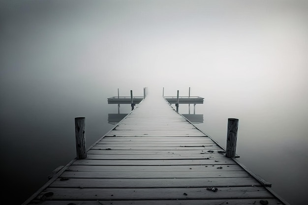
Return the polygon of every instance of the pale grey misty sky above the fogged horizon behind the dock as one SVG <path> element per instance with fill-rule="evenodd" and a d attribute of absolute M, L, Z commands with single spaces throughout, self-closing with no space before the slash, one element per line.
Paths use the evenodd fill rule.
<path fill-rule="evenodd" d="M 0 15 L 1 114 L 119 87 L 308 113 L 305 0 L 2 0 Z"/>

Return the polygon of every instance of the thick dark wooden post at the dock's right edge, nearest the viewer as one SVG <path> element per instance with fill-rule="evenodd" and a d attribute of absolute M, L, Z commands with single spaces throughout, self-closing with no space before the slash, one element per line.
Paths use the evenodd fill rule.
<path fill-rule="evenodd" d="M 235 157 L 239 119 L 228 118 L 226 157 Z"/>

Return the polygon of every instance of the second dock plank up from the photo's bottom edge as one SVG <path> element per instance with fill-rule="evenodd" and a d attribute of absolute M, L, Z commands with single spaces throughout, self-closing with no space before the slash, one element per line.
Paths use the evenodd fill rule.
<path fill-rule="evenodd" d="M 176 199 L 247 199 L 273 198 L 263 187 L 206 188 L 47 188 L 46 200 L 176 200 Z M 185 193 L 185 194 L 184 194 Z M 38 198 L 40 198 L 38 196 Z M 45 195 L 46 196 L 46 195 Z"/>

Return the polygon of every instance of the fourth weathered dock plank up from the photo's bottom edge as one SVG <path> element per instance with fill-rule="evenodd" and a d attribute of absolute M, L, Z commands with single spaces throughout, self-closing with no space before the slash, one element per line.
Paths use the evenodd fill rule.
<path fill-rule="evenodd" d="M 182 171 L 182 172 L 64 172 L 62 178 L 200 178 L 250 177 L 245 171 Z"/>

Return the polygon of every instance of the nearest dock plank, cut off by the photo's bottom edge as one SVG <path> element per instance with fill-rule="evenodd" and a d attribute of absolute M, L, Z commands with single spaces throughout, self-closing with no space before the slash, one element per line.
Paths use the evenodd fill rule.
<path fill-rule="evenodd" d="M 269 205 L 279 205 L 276 199 L 217 199 L 217 200 L 93 200 L 93 201 L 39 201 L 39 205 L 258 205 L 260 200 L 268 201 Z"/>

